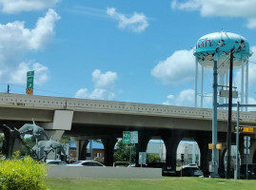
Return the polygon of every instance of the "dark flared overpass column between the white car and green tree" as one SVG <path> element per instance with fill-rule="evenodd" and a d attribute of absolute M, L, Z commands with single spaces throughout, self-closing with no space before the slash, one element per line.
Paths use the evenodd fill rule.
<path fill-rule="evenodd" d="M 114 162 L 114 146 L 117 142 L 116 138 L 102 138 L 104 145 L 104 164 L 112 166 Z"/>

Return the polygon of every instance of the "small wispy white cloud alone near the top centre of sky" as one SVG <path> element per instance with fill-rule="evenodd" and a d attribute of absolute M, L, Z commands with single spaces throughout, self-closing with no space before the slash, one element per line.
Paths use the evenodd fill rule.
<path fill-rule="evenodd" d="M 129 18 L 119 13 L 115 8 L 108 8 L 107 14 L 118 20 L 118 28 L 129 29 L 133 32 L 142 32 L 148 28 L 148 18 L 143 13 L 134 12 Z"/>

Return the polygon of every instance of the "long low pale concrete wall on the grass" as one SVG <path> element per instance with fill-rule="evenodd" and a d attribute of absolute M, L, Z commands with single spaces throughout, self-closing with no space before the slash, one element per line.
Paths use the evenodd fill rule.
<path fill-rule="evenodd" d="M 49 178 L 161 179 L 162 169 L 50 165 Z"/>

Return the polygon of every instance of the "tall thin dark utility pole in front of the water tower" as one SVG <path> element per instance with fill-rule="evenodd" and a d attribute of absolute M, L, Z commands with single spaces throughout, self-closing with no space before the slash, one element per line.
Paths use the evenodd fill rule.
<path fill-rule="evenodd" d="M 226 132 L 226 179 L 230 179 L 230 157 L 231 157 L 231 123 L 232 123 L 232 84 L 233 84 L 233 53 L 234 47 L 230 50 L 230 69 L 229 69 L 229 96 L 228 96 L 228 121 Z"/>

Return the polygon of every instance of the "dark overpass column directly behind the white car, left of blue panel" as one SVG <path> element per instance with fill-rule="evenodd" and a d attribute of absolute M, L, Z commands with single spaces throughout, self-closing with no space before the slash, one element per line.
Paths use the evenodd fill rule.
<path fill-rule="evenodd" d="M 74 137 L 70 137 L 71 141 L 76 146 L 76 161 L 84 161 L 87 159 L 87 146 L 89 140 L 82 140 Z"/>

